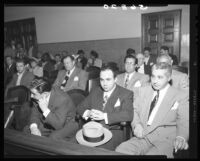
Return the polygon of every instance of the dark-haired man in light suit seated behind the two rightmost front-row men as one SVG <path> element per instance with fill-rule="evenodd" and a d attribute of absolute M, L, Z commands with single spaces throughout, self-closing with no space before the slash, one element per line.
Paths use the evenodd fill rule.
<path fill-rule="evenodd" d="M 133 55 L 127 55 L 124 58 L 125 73 L 117 76 L 117 84 L 134 92 L 136 97 L 136 89 L 149 84 L 149 76 L 135 71 L 138 60 Z"/>

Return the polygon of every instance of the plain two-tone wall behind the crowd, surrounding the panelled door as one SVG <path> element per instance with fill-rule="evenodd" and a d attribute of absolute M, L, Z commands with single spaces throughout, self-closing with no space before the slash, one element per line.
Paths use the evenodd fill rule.
<path fill-rule="evenodd" d="M 141 50 L 141 14 L 174 9 L 182 10 L 181 61 L 189 60 L 189 5 L 168 5 L 141 10 L 99 7 L 5 7 L 4 21 L 34 17 L 41 51 L 97 50 L 103 61 L 119 60 L 125 50 Z M 122 43 L 122 40 L 125 43 Z M 84 42 L 85 41 L 85 42 Z M 131 43 L 135 43 L 131 45 Z M 56 45 L 57 44 L 57 45 Z M 87 46 L 85 46 L 87 45 Z M 112 56 L 108 56 L 111 54 Z"/>

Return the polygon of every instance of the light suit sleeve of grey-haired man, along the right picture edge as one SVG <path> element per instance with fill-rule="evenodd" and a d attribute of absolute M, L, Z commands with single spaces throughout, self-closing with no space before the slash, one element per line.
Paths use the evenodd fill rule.
<path fill-rule="evenodd" d="M 180 100 L 177 109 L 177 136 L 182 136 L 186 140 L 189 138 L 189 98 L 188 95 Z"/>

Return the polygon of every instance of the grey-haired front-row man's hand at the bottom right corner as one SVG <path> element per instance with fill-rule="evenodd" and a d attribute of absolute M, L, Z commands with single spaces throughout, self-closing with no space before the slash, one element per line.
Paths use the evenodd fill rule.
<path fill-rule="evenodd" d="M 182 150 L 185 149 L 187 150 L 189 147 L 188 143 L 185 141 L 185 139 L 183 137 L 177 136 L 174 140 L 174 149 L 175 149 L 175 153 L 178 150 Z"/>

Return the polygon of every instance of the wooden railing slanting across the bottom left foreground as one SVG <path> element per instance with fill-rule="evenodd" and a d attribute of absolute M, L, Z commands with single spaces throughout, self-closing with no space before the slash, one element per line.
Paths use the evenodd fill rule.
<path fill-rule="evenodd" d="M 4 129 L 4 156 L 13 155 L 123 155 L 103 148 L 87 147 Z"/>

